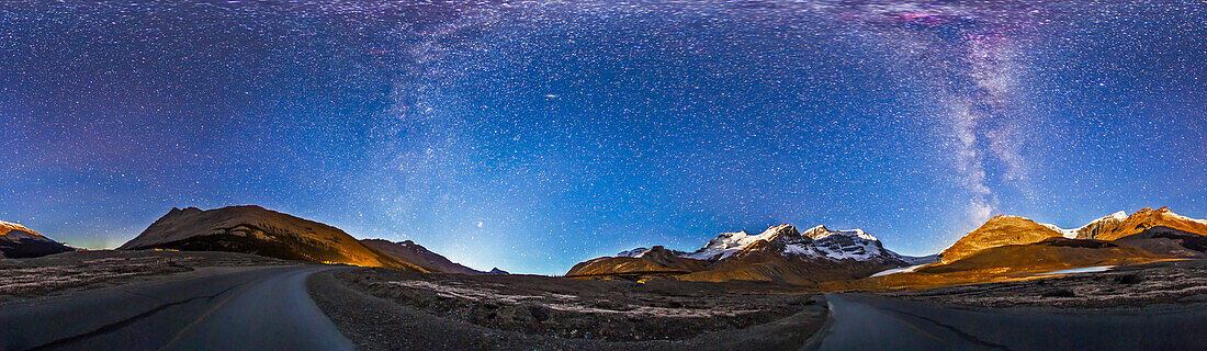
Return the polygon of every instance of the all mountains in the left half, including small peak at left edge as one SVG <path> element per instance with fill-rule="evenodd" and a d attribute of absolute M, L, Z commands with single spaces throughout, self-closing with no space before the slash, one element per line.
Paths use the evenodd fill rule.
<path fill-rule="evenodd" d="M 383 267 L 422 273 L 503 275 L 454 263 L 406 240 L 357 240 L 323 223 L 260 206 L 171 209 L 117 250 L 228 251 L 314 263 Z M 75 248 L 21 224 L 0 222 L 0 258 L 30 258 Z"/>

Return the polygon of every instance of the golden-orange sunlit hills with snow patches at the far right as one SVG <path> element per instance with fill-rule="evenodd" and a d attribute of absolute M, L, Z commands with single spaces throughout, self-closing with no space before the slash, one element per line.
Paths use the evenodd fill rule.
<path fill-rule="evenodd" d="M 1061 229 L 1024 217 L 997 216 L 944 250 L 943 261 L 849 282 L 833 289 L 929 288 L 1026 280 L 1048 271 L 1207 258 L 1207 221 L 1166 207 L 1116 212 L 1080 228 Z"/>

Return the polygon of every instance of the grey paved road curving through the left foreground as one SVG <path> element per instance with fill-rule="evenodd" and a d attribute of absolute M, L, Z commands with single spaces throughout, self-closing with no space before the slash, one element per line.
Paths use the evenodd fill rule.
<path fill-rule="evenodd" d="M 267 268 L 0 305 L 0 350 L 351 350 L 305 279 Z"/>

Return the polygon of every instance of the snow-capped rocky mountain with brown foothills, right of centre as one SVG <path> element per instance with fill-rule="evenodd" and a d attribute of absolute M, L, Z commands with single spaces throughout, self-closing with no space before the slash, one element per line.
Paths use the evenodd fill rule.
<path fill-rule="evenodd" d="M 723 233 L 695 252 L 661 246 L 579 263 L 566 276 L 581 279 L 675 279 L 686 281 L 769 281 L 812 286 L 903 267 L 914 258 L 884 248 L 863 230 L 814 227 L 804 233 L 782 224 L 753 235 Z"/>

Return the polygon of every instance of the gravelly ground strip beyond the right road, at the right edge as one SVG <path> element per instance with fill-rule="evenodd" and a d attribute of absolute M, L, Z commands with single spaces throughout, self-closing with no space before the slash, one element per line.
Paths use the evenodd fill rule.
<path fill-rule="evenodd" d="M 882 294 L 987 308 L 1182 308 L 1207 304 L 1207 259 L 1124 265 L 1103 273 Z"/>

